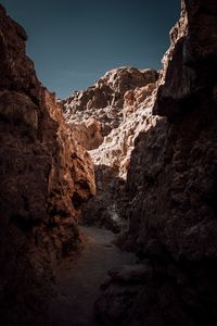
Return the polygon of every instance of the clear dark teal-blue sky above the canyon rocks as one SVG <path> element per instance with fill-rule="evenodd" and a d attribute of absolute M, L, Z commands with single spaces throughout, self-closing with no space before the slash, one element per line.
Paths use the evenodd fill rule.
<path fill-rule="evenodd" d="M 180 0 L 0 0 L 28 35 L 27 54 L 58 97 L 119 66 L 161 68 Z"/>

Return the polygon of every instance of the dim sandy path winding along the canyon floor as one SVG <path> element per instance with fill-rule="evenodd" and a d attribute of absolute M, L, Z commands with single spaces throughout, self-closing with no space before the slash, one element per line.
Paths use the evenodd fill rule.
<path fill-rule="evenodd" d="M 82 227 L 87 244 L 76 261 L 64 262 L 56 272 L 56 297 L 49 315 L 55 326 L 93 326 L 93 303 L 106 271 L 135 262 L 135 255 L 113 244 L 114 234 Z"/>

